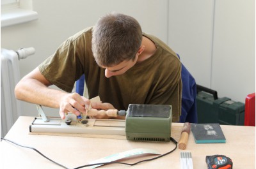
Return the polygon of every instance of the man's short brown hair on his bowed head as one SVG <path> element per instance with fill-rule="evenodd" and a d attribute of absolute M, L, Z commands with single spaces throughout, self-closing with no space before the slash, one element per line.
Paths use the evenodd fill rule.
<path fill-rule="evenodd" d="M 92 52 L 100 66 L 115 66 L 134 59 L 142 40 L 141 26 L 135 18 L 108 13 L 93 27 Z"/>

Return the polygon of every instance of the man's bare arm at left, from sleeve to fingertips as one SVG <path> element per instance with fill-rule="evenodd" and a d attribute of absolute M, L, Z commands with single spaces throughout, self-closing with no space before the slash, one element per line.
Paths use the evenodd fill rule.
<path fill-rule="evenodd" d="M 43 105 L 45 107 L 60 108 L 61 119 L 65 119 L 65 114 L 80 115 L 86 114 L 86 107 L 90 101 L 78 93 L 68 93 L 58 89 L 51 89 L 52 85 L 38 68 L 31 71 L 22 78 L 15 87 L 15 97 L 17 99 Z"/>

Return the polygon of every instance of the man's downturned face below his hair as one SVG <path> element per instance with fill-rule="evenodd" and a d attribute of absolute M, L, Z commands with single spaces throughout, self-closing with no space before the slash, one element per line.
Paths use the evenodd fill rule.
<path fill-rule="evenodd" d="M 102 68 L 105 69 L 105 77 L 109 78 L 109 77 L 124 74 L 127 70 L 129 70 L 132 66 L 134 66 L 134 64 L 136 64 L 137 59 L 138 59 L 138 55 L 136 54 L 135 59 L 131 59 L 129 61 L 122 61 L 120 62 L 120 64 L 116 64 L 115 66 L 111 66 L 111 67 L 102 66 Z"/>

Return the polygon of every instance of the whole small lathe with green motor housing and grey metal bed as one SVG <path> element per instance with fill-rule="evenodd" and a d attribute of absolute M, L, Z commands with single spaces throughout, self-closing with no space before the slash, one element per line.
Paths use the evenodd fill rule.
<path fill-rule="evenodd" d="M 127 111 L 90 108 L 87 112 L 89 116 L 125 116 L 125 120 L 78 118 L 71 113 L 65 115 L 65 120 L 59 117 L 47 118 L 41 106 L 38 106 L 38 113 L 41 117 L 35 117 L 29 126 L 30 133 L 122 135 L 133 141 L 171 141 L 172 105 L 130 104 Z"/>

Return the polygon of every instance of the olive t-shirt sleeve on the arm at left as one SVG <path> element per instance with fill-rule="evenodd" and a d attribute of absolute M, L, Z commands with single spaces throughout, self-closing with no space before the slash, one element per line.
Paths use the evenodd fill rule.
<path fill-rule="evenodd" d="M 48 57 L 38 68 L 42 75 L 60 89 L 71 92 L 76 80 L 83 74 L 83 66 L 79 60 L 83 49 L 79 47 L 79 40 L 68 38 Z"/>

